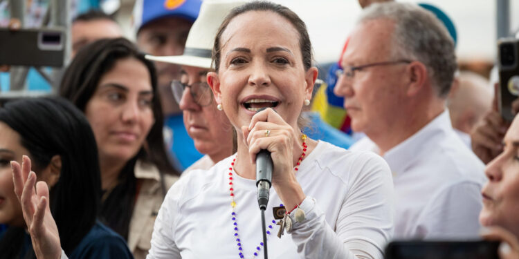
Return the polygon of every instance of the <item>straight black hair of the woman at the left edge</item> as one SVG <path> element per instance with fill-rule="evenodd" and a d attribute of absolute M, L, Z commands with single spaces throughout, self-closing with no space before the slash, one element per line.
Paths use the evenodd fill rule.
<path fill-rule="evenodd" d="M 95 224 L 100 200 L 98 149 L 88 120 L 65 99 L 40 97 L 8 102 L 0 108 L 0 122 L 20 135 L 36 173 L 60 156 L 60 178 L 50 188 L 50 207 L 62 248 L 71 253 Z M 0 253 L 19 254 L 23 233 L 21 228 L 8 229 Z"/>

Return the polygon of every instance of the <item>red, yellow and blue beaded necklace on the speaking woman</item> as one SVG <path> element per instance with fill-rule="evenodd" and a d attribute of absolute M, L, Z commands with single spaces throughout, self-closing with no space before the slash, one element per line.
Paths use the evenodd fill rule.
<path fill-rule="evenodd" d="M 303 151 L 302 151 L 301 156 L 299 157 L 297 164 L 295 164 L 295 167 L 294 167 L 295 172 L 297 172 L 299 170 L 299 165 L 301 164 L 303 157 L 304 157 L 304 155 L 306 155 L 306 152 L 307 152 L 307 142 L 306 142 L 307 135 L 302 134 L 301 139 L 302 139 Z M 238 223 L 236 222 L 237 215 L 235 212 L 236 202 L 235 202 L 235 193 L 234 193 L 234 189 L 233 189 L 233 173 L 234 173 L 235 162 L 236 162 L 236 157 L 233 158 L 233 162 L 231 162 L 230 166 L 229 166 L 229 191 L 230 191 L 230 200 L 231 200 L 230 207 L 232 207 L 232 213 L 230 213 L 230 215 L 231 215 L 231 220 L 233 220 L 233 228 L 235 231 L 234 236 L 236 238 L 236 243 L 238 246 L 238 256 L 239 256 L 239 258 L 244 258 L 242 241 L 239 240 Z M 280 206 L 282 207 L 283 204 L 280 204 Z M 273 224 L 275 224 L 275 220 L 272 220 L 271 223 L 268 224 L 268 227 L 266 230 L 267 240 L 268 240 L 268 237 L 271 236 L 271 229 L 273 229 Z M 260 251 L 262 250 L 263 245 L 264 245 L 263 242 L 260 242 L 260 245 L 258 245 L 256 247 L 256 250 L 253 253 L 253 258 L 256 258 L 256 256 L 258 256 L 258 253 L 260 253 Z"/>

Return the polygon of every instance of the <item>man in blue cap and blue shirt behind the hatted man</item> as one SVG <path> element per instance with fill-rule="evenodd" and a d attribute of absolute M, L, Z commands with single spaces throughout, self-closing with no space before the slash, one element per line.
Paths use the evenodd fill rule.
<path fill-rule="evenodd" d="M 201 0 L 137 0 L 133 19 L 138 47 L 151 55 L 181 55 Z M 183 126 L 182 113 L 171 92 L 171 81 L 179 79 L 180 66 L 155 64 L 158 90 L 165 116 L 166 142 L 172 162 L 179 171 L 202 157 Z"/>

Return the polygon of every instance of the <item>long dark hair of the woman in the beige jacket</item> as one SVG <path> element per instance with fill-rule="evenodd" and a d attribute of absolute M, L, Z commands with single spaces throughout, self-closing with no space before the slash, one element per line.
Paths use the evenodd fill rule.
<path fill-rule="evenodd" d="M 60 84 L 60 96 L 69 99 L 84 112 L 86 104 L 98 88 L 101 77 L 109 72 L 121 59 L 133 58 L 142 62 L 147 68 L 153 89 L 152 111 L 154 121 L 146 137 L 146 143 L 137 155 L 127 162 L 119 173 L 119 184 L 113 190 L 104 193 L 101 204 L 101 218 L 111 229 L 127 238 L 129 222 L 134 208 L 136 195 L 136 178 L 134 165 L 137 160 L 150 162 L 157 166 L 161 177 L 163 173 L 179 175 L 170 164 L 170 157 L 165 151 L 163 140 L 163 114 L 155 66 L 145 59 L 134 44 L 124 38 L 100 39 L 93 41 L 78 52 L 66 69 Z M 163 194 L 165 185 L 162 182 Z"/>

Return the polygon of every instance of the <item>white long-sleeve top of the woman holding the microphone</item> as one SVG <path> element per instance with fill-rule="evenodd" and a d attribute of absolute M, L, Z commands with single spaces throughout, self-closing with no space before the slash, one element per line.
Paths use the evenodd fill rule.
<path fill-rule="evenodd" d="M 239 258 L 228 179 L 233 157 L 208 171 L 192 171 L 172 186 L 158 212 L 148 259 Z M 394 193 L 381 157 L 318 142 L 296 177 L 307 195 L 300 205 L 306 218 L 301 223 L 292 218 L 291 233 L 281 239 L 272 224 L 268 258 L 383 258 L 392 237 Z M 255 180 L 235 174 L 233 188 L 243 253 L 252 258 L 262 242 L 257 187 Z M 281 203 L 274 189 L 270 196 L 267 225 L 272 207 Z M 258 254 L 263 258 L 263 251 Z"/>

